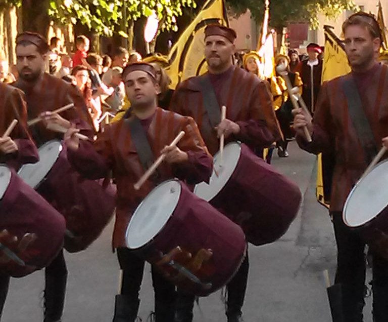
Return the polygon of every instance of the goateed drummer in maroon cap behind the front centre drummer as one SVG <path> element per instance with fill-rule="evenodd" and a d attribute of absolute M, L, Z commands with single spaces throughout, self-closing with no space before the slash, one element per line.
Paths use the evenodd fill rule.
<path fill-rule="evenodd" d="M 170 104 L 171 110 L 196 120 L 212 155 L 219 149 L 221 134 L 224 134 L 226 142 L 238 140 L 259 150 L 280 139 L 272 96 L 266 82 L 232 65 L 235 38 L 236 32 L 231 28 L 222 25 L 206 27 L 205 58 L 209 71 L 181 83 Z M 209 97 L 214 95 L 215 104 L 206 106 Z M 219 113 L 223 105 L 226 106 L 226 119 L 215 124 L 209 117 L 208 109 L 214 108 Z M 241 320 L 248 270 L 247 255 L 227 286 L 226 315 L 229 322 Z M 176 321 L 192 321 L 194 299 L 192 295 L 179 296 Z"/>

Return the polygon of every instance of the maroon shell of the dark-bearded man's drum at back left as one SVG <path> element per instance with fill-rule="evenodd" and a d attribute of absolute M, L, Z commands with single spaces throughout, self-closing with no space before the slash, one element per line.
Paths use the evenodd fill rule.
<path fill-rule="evenodd" d="M 65 217 L 70 234 L 64 247 L 70 253 L 89 247 L 114 214 L 114 186 L 83 178 L 68 162 L 65 146 L 37 191 Z"/>

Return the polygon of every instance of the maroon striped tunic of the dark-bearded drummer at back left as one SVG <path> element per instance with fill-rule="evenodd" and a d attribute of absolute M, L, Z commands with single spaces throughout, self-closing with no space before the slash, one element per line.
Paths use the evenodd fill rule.
<path fill-rule="evenodd" d="M 69 120 L 81 133 L 91 137 L 93 123 L 86 109 L 81 92 L 73 85 L 53 75 L 43 73 L 33 86 L 21 79 L 13 84 L 26 95 L 28 119 L 37 117 L 41 112 L 53 111 L 69 103 L 75 107 L 60 115 Z M 62 140 L 63 134 L 47 130 L 42 122 L 30 127 L 30 133 L 39 147 L 47 141 Z"/>

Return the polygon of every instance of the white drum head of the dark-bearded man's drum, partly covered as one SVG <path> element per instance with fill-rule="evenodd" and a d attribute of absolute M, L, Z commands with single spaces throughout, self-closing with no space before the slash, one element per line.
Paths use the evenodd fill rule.
<path fill-rule="evenodd" d="M 60 141 L 54 140 L 43 144 L 38 149 L 39 161 L 34 164 L 23 165 L 18 175 L 30 187 L 36 188 L 53 168 L 61 151 L 62 144 Z"/>

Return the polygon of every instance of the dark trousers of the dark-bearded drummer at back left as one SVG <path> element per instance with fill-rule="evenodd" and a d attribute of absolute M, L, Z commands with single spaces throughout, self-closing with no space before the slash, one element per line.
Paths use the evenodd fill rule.
<path fill-rule="evenodd" d="M 59 321 L 65 303 L 67 268 L 63 250 L 44 270 L 44 322 Z M 10 276 L 0 275 L 0 319 L 8 294 Z"/>

